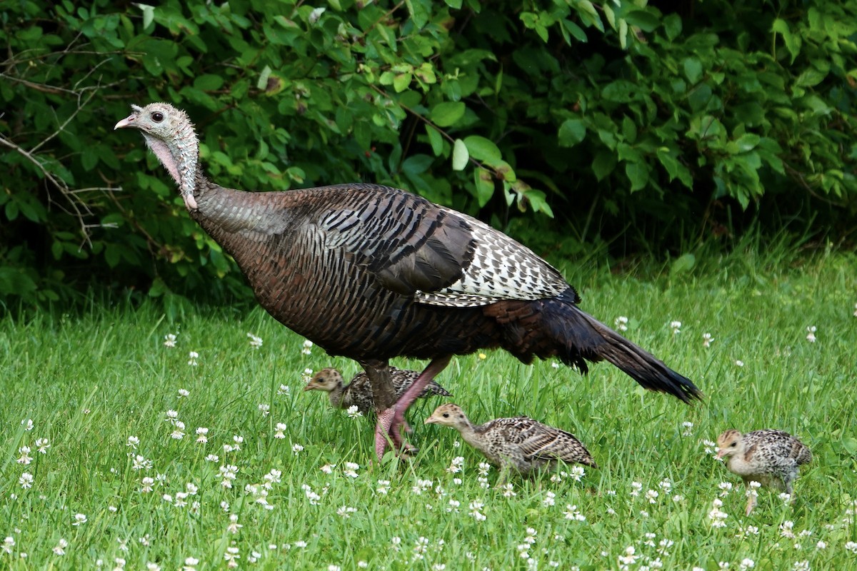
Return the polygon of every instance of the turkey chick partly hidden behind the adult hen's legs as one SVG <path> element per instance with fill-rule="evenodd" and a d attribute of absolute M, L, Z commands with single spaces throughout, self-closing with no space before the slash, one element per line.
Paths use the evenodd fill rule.
<path fill-rule="evenodd" d="M 393 389 L 396 391 L 396 396 L 399 397 L 405 394 L 405 390 L 408 390 L 411 384 L 417 380 L 420 373 L 391 366 L 390 375 L 393 379 Z M 363 414 L 375 412 L 375 398 L 372 396 L 372 384 L 369 382 L 369 375 L 360 372 L 351 378 L 351 383 L 345 384 L 344 381 L 341 372 L 333 367 L 327 367 L 316 372 L 313 378 L 309 379 L 307 386 L 303 387 L 303 390 L 327 392 L 330 405 L 334 408 L 357 407 L 357 410 Z M 433 395 L 452 396 L 440 384 L 431 381 L 425 386 L 418 398 Z"/>

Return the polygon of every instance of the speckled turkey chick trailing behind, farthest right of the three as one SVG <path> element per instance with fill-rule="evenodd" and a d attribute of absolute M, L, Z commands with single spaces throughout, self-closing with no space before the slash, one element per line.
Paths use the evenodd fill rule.
<path fill-rule="evenodd" d="M 729 472 L 744 483 L 758 482 L 791 495 L 798 467 L 812 461 L 812 452 L 788 432 L 761 430 L 741 434 L 728 430 L 717 437 L 717 459 L 726 458 Z M 746 514 L 756 505 L 756 495 L 747 499 Z"/>

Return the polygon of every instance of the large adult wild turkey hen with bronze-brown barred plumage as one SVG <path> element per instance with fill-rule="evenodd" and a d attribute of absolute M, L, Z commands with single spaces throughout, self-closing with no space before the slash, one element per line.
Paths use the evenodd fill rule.
<path fill-rule="evenodd" d="M 372 384 L 379 458 L 405 409 L 454 354 L 504 348 L 524 363 L 556 356 L 587 371 L 608 360 L 682 401 L 691 381 L 578 309 L 577 292 L 529 248 L 403 190 L 345 184 L 246 193 L 208 181 L 193 123 L 170 104 L 132 105 L 138 128 L 192 217 L 235 259 L 267 312 Z M 429 359 L 397 401 L 387 361 Z"/>

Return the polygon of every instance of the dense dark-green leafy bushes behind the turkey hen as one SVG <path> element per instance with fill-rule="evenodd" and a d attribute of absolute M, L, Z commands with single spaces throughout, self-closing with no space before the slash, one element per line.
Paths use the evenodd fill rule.
<path fill-rule="evenodd" d="M 857 3 L 644 3 L 4 2 L 0 302 L 247 293 L 111 130 L 153 100 L 224 186 L 392 184 L 548 255 L 852 241 Z"/>

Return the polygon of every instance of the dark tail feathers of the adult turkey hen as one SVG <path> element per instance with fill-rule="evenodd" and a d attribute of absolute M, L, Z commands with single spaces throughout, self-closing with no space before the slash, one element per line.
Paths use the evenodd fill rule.
<path fill-rule="evenodd" d="M 555 303 L 546 304 L 542 316 L 556 341 L 565 346 L 565 354 L 560 353 L 559 356 L 566 364 L 578 366 L 585 372 L 584 359 L 592 362 L 606 360 L 645 389 L 669 393 L 685 402 L 702 399 L 702 391 L 689 378 L 674 372 L 655 355 L 580 311 L 577 306 L 559 299 L 551 301 Z"/>

